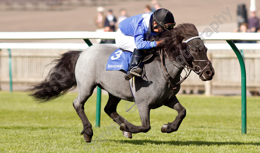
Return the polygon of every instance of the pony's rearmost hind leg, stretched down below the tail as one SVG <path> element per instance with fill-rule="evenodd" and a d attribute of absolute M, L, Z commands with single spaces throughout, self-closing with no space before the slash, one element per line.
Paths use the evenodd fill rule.
<path fill-rule="evenodd" d="M 79 91 L 78 97 L 73 101 L 73 107 L 75 108 L 83 124 L 83 130 L 81 132 L 81 135 L 84 134 L 83 137 L 86 142 L 91 142 L 93 130 L 92 125 L 84 112 L 84 105 L 88 98 L 92 95 L 93 90 L 94 87 L 92 87 L 92 89 L 85 94 L 82 94 L 82 92 Z"/>

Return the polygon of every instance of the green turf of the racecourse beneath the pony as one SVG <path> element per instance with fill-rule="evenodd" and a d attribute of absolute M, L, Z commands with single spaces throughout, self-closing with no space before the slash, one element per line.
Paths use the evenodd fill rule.
<path fill-rule="evenodd" d="M 260 152 L 260 97 L 247 98 L 247 134 L 241 134 L 240 96 L 177 96 L 187 115 L 178 131 L 161 133 L 164 123 L 177 115 L 165 106 L 151 110 L 151 130 L 125 138 L 112 130 L 113 122 L 103 111 L 107 95 L 102 95 L 101 127 L 95 127 L 96 95 L 85 104 L 93 125 L 93 142 L 80 135 L 82 123 L 72 106 L 76 93 L 45 104 L 37 104 L 26 93 L 0 91 L 0 152 Z M 138 111 L 118 112 L 141 125 Z M 86 151 L 88 150 L 88 151 Z"/>

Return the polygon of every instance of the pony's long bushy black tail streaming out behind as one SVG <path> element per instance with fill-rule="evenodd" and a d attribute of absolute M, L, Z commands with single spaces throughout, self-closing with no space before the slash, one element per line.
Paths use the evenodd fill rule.
<path fill-rule="evenodd" d="M 29 96 L 40 102 L 47 102 L 75 89 L 75 67 L 81 52 L 69 51 L 61 54 L 60 59 L 52 61 L 50 64 L 56 65 L 51 68 L 44 81 L 27 90 L 31 92 Z"/>

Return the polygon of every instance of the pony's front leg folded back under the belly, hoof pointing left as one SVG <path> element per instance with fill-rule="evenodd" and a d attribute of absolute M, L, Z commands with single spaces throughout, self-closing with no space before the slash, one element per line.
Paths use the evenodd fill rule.
<path fill-rule="evenodd" d="M 137 105 L 137 108 L 139 111 L 142 125 L 136 126 L 136 125 L 133 125 L 133 124 L 129 123 L 128 121 L 126 121 L 125 123 L 121 124 L 120 130 L 131 132 L 131 133 L 140 133 L 140 132 L 146 133 L 151 129 L 150 108 L 148 106 L 146 106 L 145 104 L 137 103 L 136 105 Z"/>

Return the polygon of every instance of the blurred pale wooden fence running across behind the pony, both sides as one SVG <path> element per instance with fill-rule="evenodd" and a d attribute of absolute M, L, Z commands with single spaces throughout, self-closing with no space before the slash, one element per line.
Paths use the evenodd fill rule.
<path fill-rule="evenodd" d="M 4 44 L 10 46 L 12 43 L 0 43 L 0 45 L 1 44 L 2 46 L 4 46 Z M 59 58 L 60 53 L 67 52 L 68 50 L 85 50 L 88 47 L 87 44 L 27 43 L 25 46 L 28 46 L 28 48 L 24 47 L 23 49 L 18 49 L 19 47 L 15 44 L 23 43 L 13 43 L 11 46 L 14 46 L 14 49 L 10 48 L 11 73 L 14 90 L 24 90 L 28 85 L 43 80 L 51 68 L 51 65 L 48 64 L 52 60 Z M 180 93 L 197 94 L 206 92 L 206 94 L 240 94 L 240 65 L 231 47 L 228 46 L 228 44 L 205 45 L 208 48 L 207 54 L 215 70 L 213 79 L 211 81 L 203 82 L 199 79 L 197 74 L 191 73 L 188 79 L 182 83 Z M 253 47 L 252 44 L 241 45 L 237 44 L 238 49 L 242 48 L 245 59 L 247 91 L 252 95 L 259 95 L 260 44 L 253 44 Z M 0 51 L 1 89 L 9 90 L 9 83 L 9 51 L 6 48 L 1 49 Z"/>

